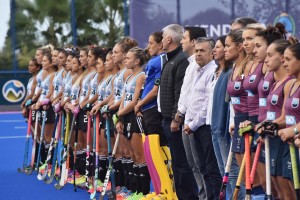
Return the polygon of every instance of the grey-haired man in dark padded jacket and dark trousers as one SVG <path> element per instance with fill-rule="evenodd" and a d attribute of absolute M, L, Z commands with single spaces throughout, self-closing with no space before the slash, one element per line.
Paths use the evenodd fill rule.
<path fill-rule="evenodd" d="M 187 162 L 182 142 L 180 123 L 175 121 L 180 90 L 189 65 L 188 55 L 182 51 L 180 41 L 184 29 L 178 24 L 163 28 L 163 49 L 166 52 L 160 80 L 158 110 L 163 116 L 163 129 L 172 156 L 175 189 L 178 199 L 198 199 L 198 187 Z"/>

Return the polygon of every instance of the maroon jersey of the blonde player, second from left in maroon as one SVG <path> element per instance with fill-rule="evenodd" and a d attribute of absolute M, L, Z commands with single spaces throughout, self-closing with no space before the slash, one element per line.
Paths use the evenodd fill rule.
<path fill-rule="evenodd" d="M 263 63 L 259 63 L 256 69 L 249 73 L 245 80 L 243 81 L 243 87 L 248 93 L 247 103 L 249 116 L 257 116 L 259 111 L 259 97 L 258 97 L 258 84 L 263 78 L 262 73 Z M 251 70 L 250 70 L 251 71 Z"/>

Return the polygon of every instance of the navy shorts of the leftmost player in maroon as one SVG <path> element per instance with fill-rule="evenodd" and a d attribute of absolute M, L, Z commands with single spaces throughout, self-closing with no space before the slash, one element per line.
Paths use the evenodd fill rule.
<path fill-rule="evenodd" d="M 236 113 L 234 116 L 234 133 L 232 136 L 231 151 L 234 153 L 245 153 L 245 140 L 239 135 L 239 125 L 241 122 L 248 120 L 248 113 Z"/>

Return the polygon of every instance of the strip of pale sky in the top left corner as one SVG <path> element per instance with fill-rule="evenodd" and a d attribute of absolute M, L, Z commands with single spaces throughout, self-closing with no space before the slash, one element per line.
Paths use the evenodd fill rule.
<path fill-rule="evenodd" d="M 0 50 L 4 46 L 6 32 L 8 30 L 10 6 L 9 0 L 1 0 L 0 6 Z"/>

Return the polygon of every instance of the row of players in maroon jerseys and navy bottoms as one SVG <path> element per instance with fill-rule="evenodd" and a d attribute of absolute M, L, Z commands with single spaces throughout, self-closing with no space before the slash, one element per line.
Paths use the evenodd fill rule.
<path fill-rule="evenodd" d="M 251 186 L 262 187 L 268 199 L 300 197 L 299 157 L 294 149 L 300 147 L 300 44 L 285 33 L 280 27 L 265 29 L 260 24 L 250 24 L 232 30 L 224 47 L 223 59 L 233 62 L 227 92 L 235 114 L 231 151 L 240 167 L 237 185 L 244 172 L 244 155 L 249 156 L 250 148 L 255 152 L 257 145 L 256 156 L 252 156 L 257 167 L 251 173 L 255 178 L 250 177 L 250 160 L 248 170 L 246 167 L 246 195 L 250 195 Z M 244 132 L 251 132 L 247 129 L 250 124 L 256 125 L 249 128 L 255 132 L 251 146 L 247 145 L 249 139 L 245 143 L 243 137 Z M 266 151 L 261 148 L 264 145 Z M 227 164 L 225 173 L 229 171 Z M 237 194 L 233 196 L 238 198 Z"/>

